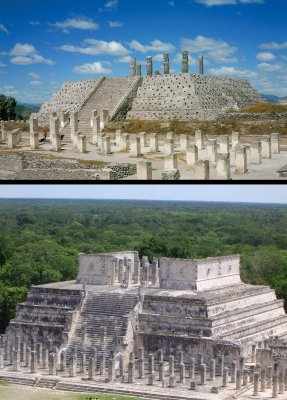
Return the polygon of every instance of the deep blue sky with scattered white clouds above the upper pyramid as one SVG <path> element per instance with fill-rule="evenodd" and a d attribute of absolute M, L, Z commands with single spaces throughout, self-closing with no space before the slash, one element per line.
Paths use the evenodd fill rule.
<path fill-rule="evenodd" d="M 287 95 L 286 0 L 0 0 L 0 93 L 42 103 L 66 80 L 129 75 L 129 58 L 198 56 L 206 73 Z M 143 68 L 145 73 L 145 67 Z"/>

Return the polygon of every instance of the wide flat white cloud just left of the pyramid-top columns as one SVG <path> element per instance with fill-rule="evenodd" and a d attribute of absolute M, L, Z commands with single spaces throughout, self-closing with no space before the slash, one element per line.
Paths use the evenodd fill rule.
<path fill-rule="evenodd" d="M 69 53 L 81 53 L 92 56 L 97 55 L 112 55 L 122 56 L 129 53 L 129 51 L 121 44 L 115 41 L 105 42 L 104 40 L 86 39 L 82 43 L 86 47 L 74 46 L 74 45 L 63 45 L 58 47 L 60 50 L 67 51 Z"/>

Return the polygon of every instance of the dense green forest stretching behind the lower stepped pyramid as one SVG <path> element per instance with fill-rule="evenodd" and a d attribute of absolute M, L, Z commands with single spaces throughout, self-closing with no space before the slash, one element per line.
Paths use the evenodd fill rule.
<path fill-rule="evenodd" d="M 71 280 L 78 253 L 241 255 L 241 278 L 287 304 L 287 206 L 112 200 L 0 200 L 0 332 L 31 285 Z"/>

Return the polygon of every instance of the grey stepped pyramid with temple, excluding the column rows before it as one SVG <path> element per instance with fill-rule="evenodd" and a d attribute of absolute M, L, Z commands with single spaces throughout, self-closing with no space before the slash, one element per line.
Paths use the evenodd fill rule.
<path fill-rule="evenodd" d="M 283 301 L 267 286 L 247 285 L 239 256 L 204 260 L 137 252 L 81 254 L 76 281 L 34 286 L 17 306 L 5 337 L 74 353 L 109 357 L 144 347 L 204 360 L 249 357 L 252 344 L 284 338 Z M 99 359 L 98 359 L 99 363 Z"/>

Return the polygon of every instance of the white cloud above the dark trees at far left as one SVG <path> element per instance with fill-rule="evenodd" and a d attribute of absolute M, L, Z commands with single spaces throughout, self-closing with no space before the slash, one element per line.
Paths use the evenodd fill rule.
<path fill-rule="evenodd" d="M 32 44 L 16 43 L 13 49 L 8 53 L 12 56 L 11 64 L 29 65 L 29 64 L 47 64 L 53 65 L 54 61 L 41 56 Z"/>

